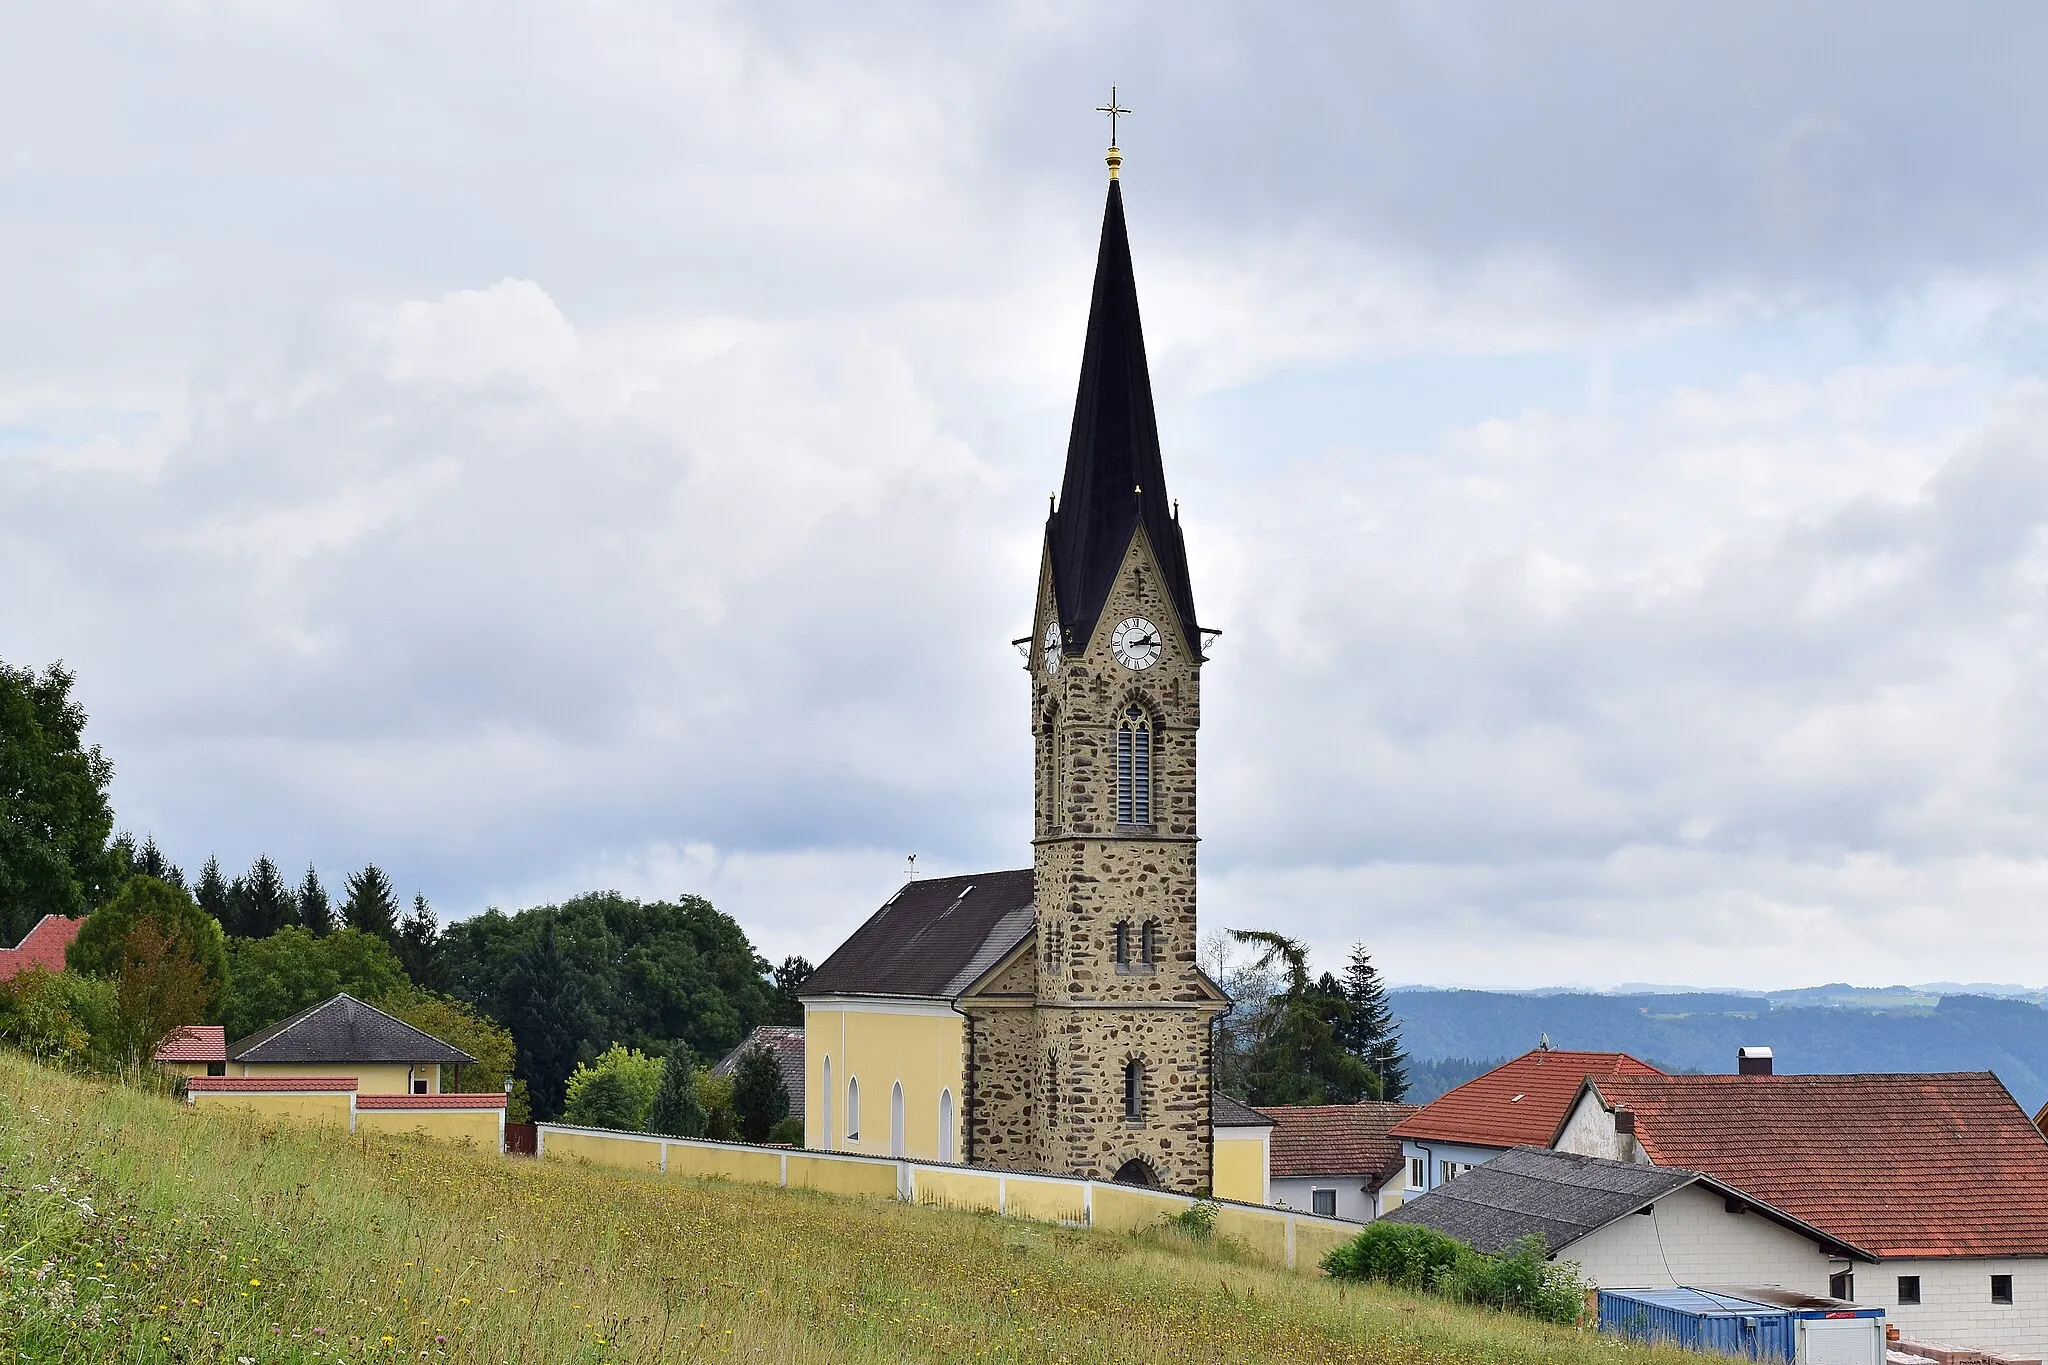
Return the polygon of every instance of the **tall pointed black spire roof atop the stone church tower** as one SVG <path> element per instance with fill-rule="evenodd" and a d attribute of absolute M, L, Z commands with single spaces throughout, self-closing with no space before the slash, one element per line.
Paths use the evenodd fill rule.
<path fill-rule="evenodd" d="M 1188 645 L 1198 647 L 1188 553 L 1171 508 L 1165 465 L 1159 460 L 1151 372 L 1145 368 L 1124 194 L 1122 184 L 1112 178 L 1110 203 L 1102 211 L 1102 248 L 1096 254 L 1096 295 L 1087 305 L 1081 387 L 1073 397 L 1067 477 L 1059 485 L 1059 510 L 1044 526 L 1053 593 L 1059 598 L 1069 649 L 1081 649 L 1094 634 L 1139 526 L 1159 559 L 1165 589 L 1180 612 L 1180 628 Z"/>

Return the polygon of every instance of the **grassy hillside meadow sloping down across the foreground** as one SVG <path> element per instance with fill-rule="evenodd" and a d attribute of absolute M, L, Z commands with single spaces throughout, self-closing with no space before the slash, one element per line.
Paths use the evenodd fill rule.
<path fill-rule="evenodd" d="M 1180 1234 L 264 1128 L 12 1054 L 0 1189 L 6 1359 L 1686 1359 Z"/>

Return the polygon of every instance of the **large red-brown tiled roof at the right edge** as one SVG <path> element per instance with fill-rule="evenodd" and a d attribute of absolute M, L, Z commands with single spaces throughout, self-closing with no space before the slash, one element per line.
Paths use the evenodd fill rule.
<path fill-rule="evenodd" d="M 1989 1070 L 1595 1076 L 1659 1166 L 1704 1171 L 1880 1257 L 2048 1254 L 2048 1140 Z"/>

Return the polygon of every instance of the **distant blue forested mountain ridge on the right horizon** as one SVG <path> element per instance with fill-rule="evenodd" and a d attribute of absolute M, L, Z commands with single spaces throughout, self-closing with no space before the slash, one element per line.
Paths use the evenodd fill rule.
<path fill-rule="evenodd" d="M 1520 1056 L 1548 1036 L 1552 1048 L 1630 1052 L 1673 1070 L 1733 1072 L 1747 1044 L 1772 1048 L 1780 1072 L 1991 1070 L 2028 1113 L 2048 1101 L 2048 1009 L 2030 999 L 1835 984 L 1753 995 L 1401 988 L 1389 1003 L 1409 1058 L 1446 1089 L 1477 1060 Z M 1427 1089 L 1409 1099 L 1427 1103 Z"/>

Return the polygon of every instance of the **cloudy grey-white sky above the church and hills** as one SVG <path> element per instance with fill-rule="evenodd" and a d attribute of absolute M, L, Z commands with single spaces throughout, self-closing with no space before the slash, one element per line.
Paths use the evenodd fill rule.
<path fill-rule="evenodd" d="M 819 958 L 1028 862 L 1106 127 L 1202 915 L 2048 982 L 2048 10 L 0 16 L 0 659 L 121 825 Z"/>

